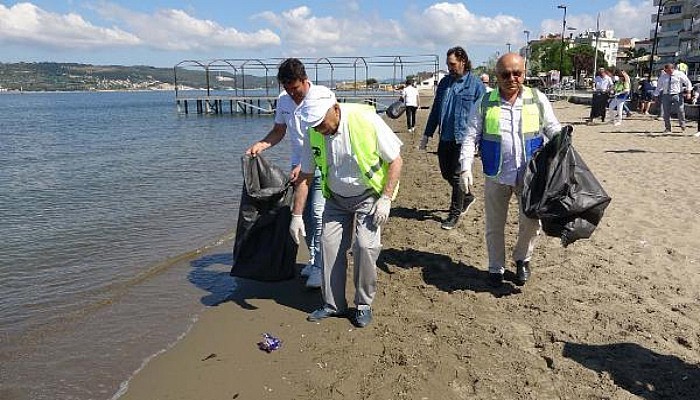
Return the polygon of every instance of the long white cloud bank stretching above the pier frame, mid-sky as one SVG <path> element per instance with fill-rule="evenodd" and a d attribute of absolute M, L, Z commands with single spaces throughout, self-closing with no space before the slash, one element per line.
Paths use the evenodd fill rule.
<path fill-rule="evenodd" d="M 417 12 L 407 11 L 402 21 L 363 13 L 356 6 L 356 2 L 347 2 L 338 13 L 342 17 L 316 16 L 307 6 L 281 13 L 267 11 L 256 17 L 274 26 L 286 51 L 304 56 L 368 54 L 368 49 L 405 53 L 407 44 L 442 52 L 455 45 L 505 46 L 523 41 L 520 19 L 478 16 L 462 3 L 436 3 Z"/>

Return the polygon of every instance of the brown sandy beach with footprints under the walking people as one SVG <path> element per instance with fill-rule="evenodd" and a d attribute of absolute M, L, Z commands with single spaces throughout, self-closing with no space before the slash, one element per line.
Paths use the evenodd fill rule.
<path fill-rule="evenodd" d="M 613 200 L 591 239 L 562 248 L 541 236 L 527 285 L 487 283 L 479 165 L 477 202 L 457 228 L 440 228 L 449 190 L 437 138 L 427 153 L 416 149 L 428 114 L 419 110 L 414 134 L 403 117 L 389 120 L 404 170 L 369 327 L 307 322 L 320 292 L 300 279 L 241 281 L 121 399 L 697 399 L 697 124 L 661 134 L 663 121 L 635 113 L 619 127 L 587 125 L 587 106 L 553 106 Z M 282 348 L 259 350 L 264 332 Z"/>

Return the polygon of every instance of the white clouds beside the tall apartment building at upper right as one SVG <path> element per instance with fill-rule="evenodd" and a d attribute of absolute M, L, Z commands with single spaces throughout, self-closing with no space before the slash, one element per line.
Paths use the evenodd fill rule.
<path fill-rule="evenodd" d="M 568 10 L 570 11 L 570 9 Z M 620 0 L 613 7 L 600 12 L 600 30 L 613 30 L 615 37 L 649 38 L 651 30 L 651 15 L 656 13 L 656 7 L 651 0 L 630 2 Z M 567 15 L 566 25 L 577 28 L 577 32 L 586 29 L 596 29 L 597 15 L 574 14 Z M 540 34 L 561 33 L 562 20 L 546 19 L 542 21 Z"/>

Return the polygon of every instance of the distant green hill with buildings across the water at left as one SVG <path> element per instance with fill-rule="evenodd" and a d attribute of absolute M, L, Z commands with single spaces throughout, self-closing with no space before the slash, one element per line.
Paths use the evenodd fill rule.
<path fill-rule="evenodd" d="M 238 77 L 240 81 L 240 76 Z M 275 78 L 267 78 L 276 87 Z M 230 89 L 237 83 L 233 75 L 210 73 L 211 89 Z M 265 77 L 245 76 L 245 89 L 265 86 Z M 206 88 L 203 70 L 178 69 L 178 86 Z M 156 68 L 145 65 L 91 65 L 75 63 L 0 63 L 0 89 L 26 91 L 71 90 L 140 90 L 173 89 L 175 74 L 172 68 Z"/>

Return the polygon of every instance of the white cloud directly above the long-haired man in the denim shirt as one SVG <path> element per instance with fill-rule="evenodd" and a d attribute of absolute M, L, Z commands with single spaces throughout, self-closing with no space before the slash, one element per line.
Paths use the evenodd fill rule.
<path fill-rule="evenodd" d="M 502 14 L 478 16 L 464 3 L 436 3 L 418 15 L 408 14 L 406 20 L 410 40 L 429 48 L 503 46 L 521 42 L 524 30 L 519 18 Z"/>

